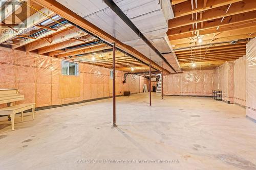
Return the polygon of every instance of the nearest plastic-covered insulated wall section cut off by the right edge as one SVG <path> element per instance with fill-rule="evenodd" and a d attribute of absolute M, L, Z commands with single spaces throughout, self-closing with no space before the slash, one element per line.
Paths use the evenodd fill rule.
<path fill-rule="evenodd" d="M 256 38 L 246 44 L 246 115 L 256 121 Z"/>

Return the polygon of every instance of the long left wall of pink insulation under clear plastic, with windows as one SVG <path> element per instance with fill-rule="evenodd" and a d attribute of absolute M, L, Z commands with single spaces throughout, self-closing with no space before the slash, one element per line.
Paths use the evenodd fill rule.
<path fill-rule="evenodd" d="M 0 47 L 0 88 L 18 88 L 25 100 L 17 104 L 42 107 L 112 96 L 110 69 L 82 63 L 78 68 L 78 76 L 61 75 L 60 59 Z M 123 84 L 124 73 L 116 71 L 116 95 L 148 86 L 147 79 L 134 75 Z"/>

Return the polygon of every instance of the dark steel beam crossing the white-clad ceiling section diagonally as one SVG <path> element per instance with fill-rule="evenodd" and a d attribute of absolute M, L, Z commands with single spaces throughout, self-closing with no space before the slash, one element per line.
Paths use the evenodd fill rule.
<path fill-rule="evenodd" d="M 134 25 L 134 23 L 123 13 L 123 11 L 112 0 L 103 0 L 116 14 L 119 16 L 127 26 L 129 26 L 151 49 L 170 67 L 177 73 L 177 71 L 170 65 L 170 63 L 163 57 L 163 55 L 157 50 L 157 48 L 140 32 L 140 30 Z"/>

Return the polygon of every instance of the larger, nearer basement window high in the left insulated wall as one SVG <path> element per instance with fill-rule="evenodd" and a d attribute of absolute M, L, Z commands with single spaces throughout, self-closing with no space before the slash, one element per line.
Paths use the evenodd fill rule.
<path fill-rule="evenodd" d="M 68 61 L 61 61 L 62 75 L 78 76 L 78 64 Z"/>

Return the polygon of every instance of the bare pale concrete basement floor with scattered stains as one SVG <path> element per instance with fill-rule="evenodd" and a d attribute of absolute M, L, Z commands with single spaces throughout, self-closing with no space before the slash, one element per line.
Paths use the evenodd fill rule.
<path fill-rule="evenodd" d="M 0 117 L 0 169 L 256 169 L 256 124 L 211 98 L 153 94 L 36 111 L 10 131 Z M 172 163 L 88 163 L 169 160 Z M 77 161 L 80 161 L 77 163 Z"/>

